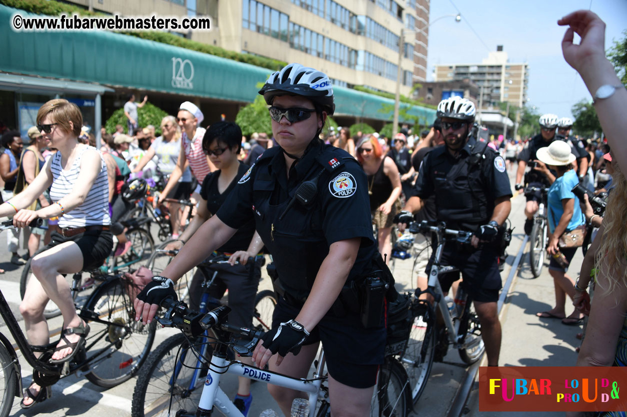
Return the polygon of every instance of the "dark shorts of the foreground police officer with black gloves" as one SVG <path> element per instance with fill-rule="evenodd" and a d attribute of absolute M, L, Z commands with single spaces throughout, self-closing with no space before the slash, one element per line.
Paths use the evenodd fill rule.
<path fill-rule="evenodd" d="M 295 319 L 300 307 L 282 297 L 272 316 L 272 328 Z M 342 317 L 327 312 L 305 341 L 305 345 L 322 342 L 329 374 L 339 383 L 352 388 L 370 388 L 377 382 L 379 364 L 384 360 L 387 332 L 383 325 L 370 329 L 361 324 L 359 314 Z"/>

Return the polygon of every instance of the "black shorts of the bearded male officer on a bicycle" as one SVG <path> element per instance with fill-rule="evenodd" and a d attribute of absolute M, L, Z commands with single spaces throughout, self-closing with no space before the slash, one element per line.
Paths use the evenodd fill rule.
<path fill-rule="evenodd" d="M 429 264 L 424 272 L 429 276 L 435 251 L 431 254 Z M 459 269 L 456 272 L 441 274 L 440 286 L 443 292 L 448 292 L 453 282 L 463 281 L 463 289 L 474 301 L 495 302 L 498 301 L 498 293 L 502 287 L 501 274 L 498 271 L 498 248 L 493 244 L 484 244 L 477 249 L 469 244 L 447 242 L 442 257 L 441 265 L 452 265 Z"/>

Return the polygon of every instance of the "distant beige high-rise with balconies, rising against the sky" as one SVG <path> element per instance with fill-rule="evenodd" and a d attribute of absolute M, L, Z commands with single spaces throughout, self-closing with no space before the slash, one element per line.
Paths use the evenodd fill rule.
<path fill-rule="evenodd" d="M 480 88 L 482 108 L 497 107 L 499 101 L 522 107 L 527 101 L 529 64 L 510 63 L 503 46 L 488 53 L 481 63 L 441 64 L 435 67 L 435 81 L 468 78 Z"/>

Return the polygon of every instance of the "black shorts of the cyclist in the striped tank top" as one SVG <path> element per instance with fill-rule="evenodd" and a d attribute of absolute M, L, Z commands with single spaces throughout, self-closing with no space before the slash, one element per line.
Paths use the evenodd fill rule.
<path fill-rule="evenodd" d="M 63 237 L 59 232 L 54 231 L 50 237 L 50 243 L 41 252 L 65 242 L 74 242 L 83 254 L 81 270 L 96 269 L 102 266 L 113 248 L 113 235 L 108 230 L 87 230 L 85 233 L 72 237 Z"/>

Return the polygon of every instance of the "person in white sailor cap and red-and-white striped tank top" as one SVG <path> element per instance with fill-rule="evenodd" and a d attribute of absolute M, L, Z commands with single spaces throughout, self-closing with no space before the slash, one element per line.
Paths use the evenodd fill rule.
<path fill-rule="evenodd" d="M 170 174 L 170 178 L 167 181 L 166 188 L 164 188 L 161 195 L 159 195 L 159 201 L 153 202 L 154 207 L 161 204 L 167 195 L 172 191 L 172 188 L 176 187 L 176 184 L 181 178 L 186 164 L 189 163 L 192 175 L 198 181 L 198 185 L 192 193 L 192 200 L 195 202 L 200 201 L 200 187 L 203 183 L 204 177 L 208 173 L 216 170 L 215 165 L 211 163 L 209 157 L 205 155 L 203 151 L 203 136 L 205 129 L 199 127 L 200 123 L 204 120 L 203 112 L 189 101 L 184 101 L 179 108 L 179 112 L 176 117 L 176 121 L 181 126 L 181 152 L 179 153 L 179 159 L 176 162 L 176 168 Z"/>

